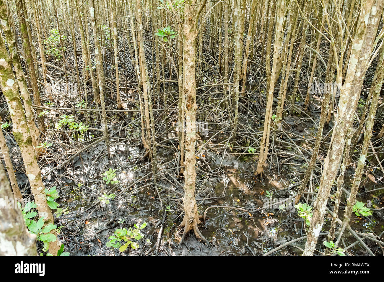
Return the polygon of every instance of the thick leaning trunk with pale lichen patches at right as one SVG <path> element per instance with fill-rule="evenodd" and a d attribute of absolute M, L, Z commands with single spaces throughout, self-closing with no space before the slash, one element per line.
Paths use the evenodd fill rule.
<path fill-rule="evenodd" d="M 382 7 L 383 0 L 366 0 L 361 2 L 361 13 L 352 40 L 348 71 L 344 84 L 340 89 L 338 112 L 335 116 L 331 145 L 324 160 L 319 191 L 314 203 L 311 225 L 305 243 L 303 254 L 306 256 L 313 254 L 319 233 L 323 227 L 326 204 L 338 172 L 341 155 L 346 143 L 346 135 L 354 120 L 354 113 L 358 106 L 361 86 L 372 53 Z M 337 83 L 341 82 L 340 67 L 336 80 Z"/>

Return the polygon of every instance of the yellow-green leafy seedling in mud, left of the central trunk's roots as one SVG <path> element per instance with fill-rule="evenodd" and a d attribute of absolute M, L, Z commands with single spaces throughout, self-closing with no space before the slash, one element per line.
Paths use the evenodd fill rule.
<path fill-rule="evenodd" d="M 136 229 L 133 230 L 131 227 L 128 229 L 116 229 L 113 233 L 114 235 L 109 236 L 109 239 L 111 240 L 106 244 L 107 247 L 119 248 L 120 252 L 124 252 L 129 246 L 131 246 L 132 249 L 137 249 L 139 244 L 133 242 L 132 239 L 139 241 L 144 237 L 140 230 L 144 229 L 147 226 L 147 223 L 144 222 L 141 224 L 140 228 L 138 228 L 136 224 L 134 226 Z M 125 244 L 123 245 L 121 241 L 124 241 Z"/>

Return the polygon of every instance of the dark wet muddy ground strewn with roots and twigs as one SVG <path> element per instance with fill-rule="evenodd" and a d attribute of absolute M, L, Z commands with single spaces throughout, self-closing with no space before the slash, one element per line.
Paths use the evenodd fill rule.
<path fill-rule="evenodd" d="M 316 116 L 316 113 L 319 113 L 319 107 L 315 107 L 312 112 Z M 51 127 L 59 114 L 52 113 L 52 116 Z M 210 146 L 211 148 L 214 146 L 214 150 L 205 146 L 197 154 L 200 157 L 197 159 L 196 195 L 200 214 L 204 214 L 209 206 L 237 207 L 247 211 L 210 208 L 207 211 L 206 223 L 201 226 L 200 231 L 211 244 L 206 246 L 191 235 L 179 248 L 181 234 L 177 226 L 182 219 L 183 178 L 177 175 L 178 170 L 174 169 L 177 167 L 175 154 L 178 144 L 175 129 L 172 128 L 172 119 L 163 118 L 160 127 L 165 134 L 162 133 L 157 140 L 161 144 L 158 148 L 159 175 L 161 176 L 157 180 L 161 201 L 152 185 L 151 165 L 146 158 L 143 158 L 139 120 L 132 123 L 131 120 L 134 119 L 137 119 L 137 112 L 129 113 L 125 119 L 110 116 L 109 132 L 113 136 L 111 160 L 108 160 L 106 147 L 102 141 L 73 157 L 76 149 L 69 150 L 68 146 L 72 144 L 72 147 L 76 148 L 76 144 L 80 144 L 79 148 L 83 148 L 82 144 L 89 144 L 97 136 L 98 132 L 91 131 L 77 140 L 74 136 L 71 136 L 71 140 L 60 140 L 63 137 L 57 135 L 60 134 L 59 132 L 54 132 L 51 134 L 53 145 L 39 159 L 46 187 L 56 186 L 60 195 L 57 200 L 59 207 L 68 208 L 66 210 L 68 213 L 56 218 L 55 223 L 62 227 L 59 239 L 71 255 L 153 255 L 156 254 L 156 250 L 162 256 L 262 255 L 285 242 L 305 236 L 305 226 L 295 211 L 293 200 L 285 202 L 284 207 L 276 204 L 276 201 L 295 195 L 298 189 L 299 182 L 306 171 L 305 162 L 300 159 L 300 156 L 297 157 L 298 151 L 301 152 L 301 150 L 294 145 L 289 146 L 275 141 L 271 145 L 272 152 L 279 152 L 276 148 L 280 148 L 281 152 L 287 153 L 275 156 L 271 154 L 269 167 L 266 168 L 266 178 L 256 179 L 253 172 L 257 165 L 257 158 L 256 153 L 247 152 L 248 146 L 252 145 L 249 144 L 249 140 L 242 139 L 244 148 L 241 150 L 231 148 L 228 143 L 223 142 L 228 138 L 228 130 L 223 128 L 229 124 L 222 124 L 221 127 L 214 124 L 208 127 L 205 135 L 201 135 L 203 143 L 216 144 Z M 316 118 L 314 121 L 316 122 Z M 260 130 L 257 128 L 260 126 L 257 120 L 251 119 L 251 126 L 255 130 Z M 294 143 L 303 148 L 304 154 L 306 151 L 310 152 L 311 142 L 306 140 L 313 139 L 316 134 L 313 119 L 287 115 L 283 126 L 283 133 L 278 133 L 281 135 L 281 140 L 294 139 Z M 324 132 L 326 130 L 329 128 L 324 129 Z M 29 184 L 23 172 L 20 153 L 11 136 L 8 132 L 7 142 L 18 183 L 23 192 L 29 195 Z M 256 145 L 253 146 L 258 148 Z M 202 145 L 198 144 L 197 147 L 201 148 Z M 102 179 L 103 173 L 109 168 L 116 169 L 116 179 L 119 183 L 110 185 Z M 351 183 L 353 173 L 352 166 L 346 175 L 345 187 Z M 380 173 L 377 176 L 379 178 Z M 318 178 L 319 173 L 314 172 L 314 179 L 318 181 Z M 233 179 L 238 181 L 237 185 L 234 185 Z M 315 180 L 310 191 L 316 190 L 318 182 Z M 372 208 L 379 209 L 383 206 L 384 190 L 366 193 L 366 191 L 383 187 L 382 181 L 376 179 L 374 182 L 364 181 L 358 200 L 365 203 L 369 201 Z M 247 189 L 248 191 L 245 191 Z M 266 191 L 273 192 L 272 198 L 275 199 L 270 203 L 275 204 L 269 208 L 270 199 L 266 196 Z M 99 198 L 112 193 L 116 195 L 114 199 L 100 200 Z M 306 194 L 306 197 L 310 196 L 313 196 L 311 192 Z M 343 203 L 345 200 L 346 196 L 343 195 Z M 330 205 L 333 206 L 333 203 L 330 202 Z M 167 211 L 164 213 L 162 208 Z M 343 208 L 340 210 L 339 217 L 342 218 Z M 328 230 L 330 214 L 326 216 L 325 221 L 323 230 Z M 138 249 L 128 248 L 124 252 L 119 252 L 118 249 L 106 246 L 110 240 L 109 236 L 113 235 L 116 229 L 134 228 L 134 224 L 139 225 L 144 222 L 147 226 L 142 230 L 144 238 L 137 241 L 140 246 Z M 353 216 L 351 225 L 354 230 L 361 233 L 374 232 L 381 234 L 382 237 L 384 213 L 374 211 L 373 216 L 366 218 Z M 159 231 L 162 236 L 157 248 Z M 321 236 L 320 240 L 323 238 L 324 236 Z M 379 246 L 369 239 L 364 240 L 372 248 L 372 252 L 377 255 L 383 254 Z M 342 247 L 346 248 L 354 241 L 353 237 L 346 236 L 342 241 Z M 273 254 L 299 255 L 304 244 L 305 240 L 300 240 Z M 324 247 L 321 250 L 324 250 Z M 347 248 L 347 251 L 353 255 L 366 254 L 359 244 Z"/>

